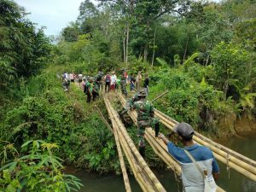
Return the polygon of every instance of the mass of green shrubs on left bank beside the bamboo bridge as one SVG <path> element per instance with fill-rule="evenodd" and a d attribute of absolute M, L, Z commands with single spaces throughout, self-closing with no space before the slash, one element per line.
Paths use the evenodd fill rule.
<path fill-rule="evenodd" d="M 84 105 L 84 93 L 76 87 L 72 90 L 65 94 L 52 69 L 30 79 L 22 102 L 4 114 L 1 139 L 19 148 L 28 140 L 44 138 L 61 146 L 55 154 L 67 164 L 119 172 L 111 133 L 92 106 Z M 103 108 L 102 102 L 98 105 Z"/>

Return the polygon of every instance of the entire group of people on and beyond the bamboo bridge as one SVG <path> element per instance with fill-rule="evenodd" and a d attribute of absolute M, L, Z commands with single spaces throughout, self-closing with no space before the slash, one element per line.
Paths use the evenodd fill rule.
<path fill-rule="evenodd" d="M 122 118 L 129 110 L 137 111 L 137 137 L 139 153 L 145 157 L 145 129 L 146 127 L 154 127 L 155 137 L 162 140 L 166 144 L 169 154 L 179 162 L 182 168 L 183 191 L 185 192 L 214 192 L 217 189 L 215 181 L 218 179 L 219 168 L 212 151 L 204 146 L 200 146 L 193 142 L 194 129 L 187 123 L 179 123 L 175 125 L 173 131 L 177 134 L 184 148 L 177 147 L 172 141 L 169 141 L 162 133 L 160 133 L 160 119 L 154 117 L 154 106 L 146 99 L 148 96 L 148 75 L 145 75 L 143 88 L 142 74 L 139 72 L 137 77 L 128 75 L 125 69 L 121 69 L 120 78 L 117 78 L 115 72 L 106 73 L 99 72 L 95 78 L 86 77 L 82 74 L 63 73 L 62 86 L 66 90 L 69 89 L 70 82 L 76 80 L 82 84 L 82 89 L 87 95 L 87 102 L 91 99 L 95 101 L 99 96 L 99 90 L 103 88 L 105 83 L 105 91 L 116 90 L 121 88 L 122 94 L 127 96 L 127 84 L 130 84 L 130 90 L 136 90 L 134 96 L 127 100 L 125 110 L 120 113 Z M 207 189 L 206 189 L 207 188 Z"/>

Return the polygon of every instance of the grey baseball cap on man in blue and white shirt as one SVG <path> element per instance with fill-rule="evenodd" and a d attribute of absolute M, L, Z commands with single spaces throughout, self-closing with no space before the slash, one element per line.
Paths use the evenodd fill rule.
<path fill-rule="evenodd" d="M 173 131 L 177 132 L 180 137 L 183 137 L 187 140 L 191 139 L 194 134 L 194 129 L 192 128 L 192 126 L 183 122 L 175 125 L 173 127 Z"/>

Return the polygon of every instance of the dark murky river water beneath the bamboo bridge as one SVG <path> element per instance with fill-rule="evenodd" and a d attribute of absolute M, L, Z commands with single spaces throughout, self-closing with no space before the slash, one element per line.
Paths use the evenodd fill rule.
<path fill-rule="evenodd" d="M 256 132 L 240 134 L 237 137 L 219 139 L 218 143 L 236 150 L 240 154 L 246 155 L 248 158 L 256 160 Z M 256 183 L 242 176 L 240 173 L 230 169 L 230 178 L 226 166 L 218 163 L 221 169 L 221 177 L 218 185 L 227 192 L 256 192 Z M 125 192 L 123 177 L 113 174 L 99 175 L 95 172 L 69 171 L 82 180 L 84 187 L 80 192 Z M 163 184 L 166 191 L 177 192 L 182 191 L 177 186 L 175 176 L 172 171 L 154 170 L 156 177 Z M 139 185 L 134 177 L 130 176 L 131 190 L 133 192 L 141 192 Z"/>

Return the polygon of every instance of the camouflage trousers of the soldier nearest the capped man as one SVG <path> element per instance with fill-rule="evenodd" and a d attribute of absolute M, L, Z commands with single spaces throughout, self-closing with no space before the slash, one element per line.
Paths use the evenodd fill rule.
<path fill-rule="evenodd" d="M 139 137 L 138 146 L 140 148 L 145 146 L 145 129 L 146 129 L 146 127 L 149 127 L 149 126 L 153 127 L 159 123 L 160 123 L 160 120 L 157 118 L 137 120 L 137 137 Z"/>

